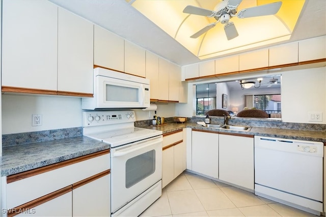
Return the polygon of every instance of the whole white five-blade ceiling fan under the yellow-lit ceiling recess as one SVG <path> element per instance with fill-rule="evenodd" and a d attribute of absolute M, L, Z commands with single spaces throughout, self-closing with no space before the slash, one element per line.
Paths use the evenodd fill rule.
<path fill-rule="evenodd" d="M 206 33 L 209 29 L 213 28 L 217 23 L 221 22 L 225 24 L 224 31 L 227 39 L 231 40 L 239 35 L 234 23 L 229 22 L 232 17 L 236 16 L 238 18 L 247 18 L 272 15 L 276 14 L 282 5 L 282 2 L 275 2 L 257 7 L 242 9 L 237 13 L 237 8 L 241 2 L 242 0 L 223 0 L 215 6 L 213 11 L 191 5 L 186 6 L 183 9 L 183 13 L 214 17 L 216 20 L 216 22 L 210 23 L 204 28 L 200 29 L 197 33 L 192 35 L 191 38 L 198 38 L 202 34 Z"/>

